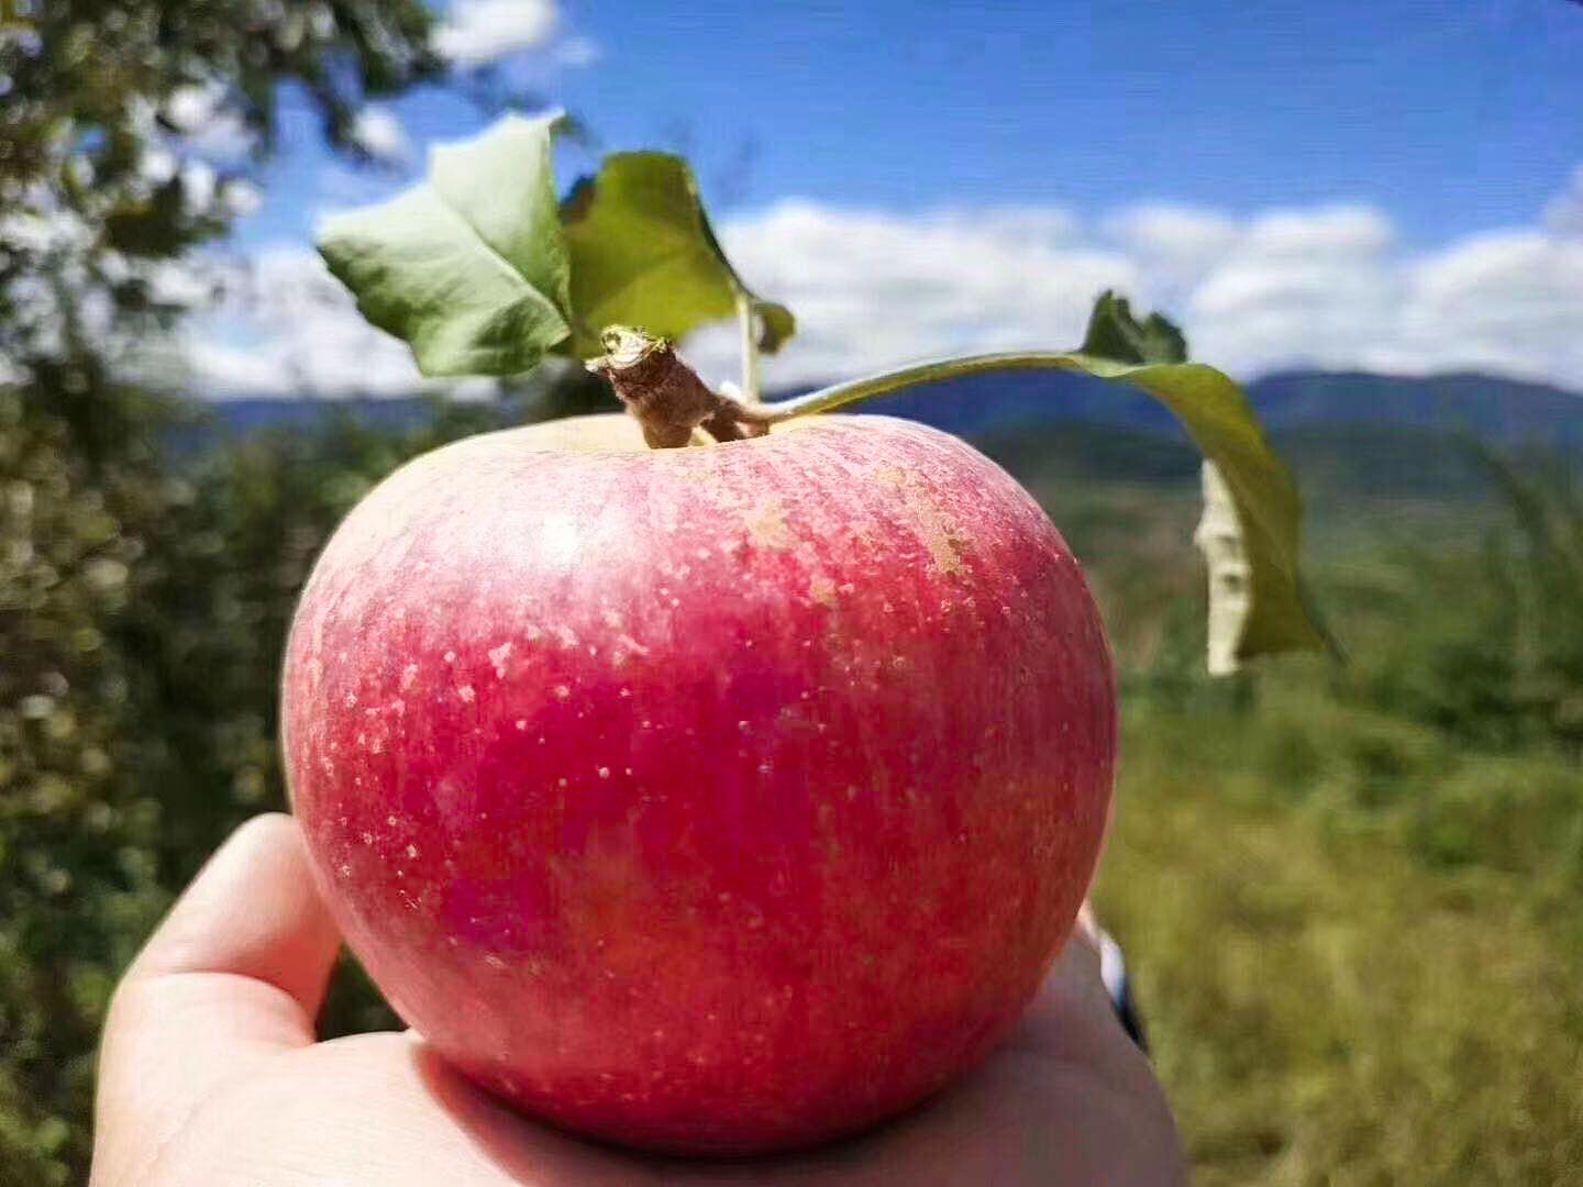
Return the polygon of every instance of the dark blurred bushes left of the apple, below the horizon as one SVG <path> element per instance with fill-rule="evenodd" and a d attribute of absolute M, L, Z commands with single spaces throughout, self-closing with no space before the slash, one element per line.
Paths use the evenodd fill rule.
<path fill-rule="evenodd" d="M 59 421 L 0 396 L 0 1162 L 22 1176 L 6 1184 L 78 1181 L 116 977 L 220 839 L 285 804 L 279 663 L 318 548 L 408 456 L 499 416 L 456 407 L 404 435 L 342 421 L 127 481 L 95 480 Z M 160 497 L 139 505 L 144 484 Z M 331 1027 L 375 1021 L 377 995 L 345 983 Z"/>

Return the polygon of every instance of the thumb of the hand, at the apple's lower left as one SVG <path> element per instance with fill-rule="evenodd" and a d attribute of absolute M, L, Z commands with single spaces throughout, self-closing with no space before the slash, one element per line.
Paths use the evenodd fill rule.
<path fill-rule="evenodd" d="M 171 908 L 111 1002 L 100 1049 L 95 1184 L 136 1182 L 222 1081 L 313 1041 L 340 937 L 296 821 L 242 825 Z"/>

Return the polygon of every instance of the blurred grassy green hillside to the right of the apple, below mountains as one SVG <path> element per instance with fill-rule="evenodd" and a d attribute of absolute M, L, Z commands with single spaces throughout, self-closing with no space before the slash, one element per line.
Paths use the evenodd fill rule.
<path fill-rule="evenodd" d="M 1100 913 L 1195 1181 L 1580 1181 L 1583 484 L 1517 470 L 1536 500 L 1518 516 L 1488 472 L 1466 472 L 1483 499 L 1458 480 L 1436 500 L 1439 462 L 1353 445 L 1355 473 L 1292 451 L 1349 662 L 1230 682 L 1200 671 L 1175 462 L 1126 437 L 1108 457 L 1094 438 L 997 449 L 1083 557 L 1122 658 Z M 1121 456 L 1154 481 L 1118 478 Z M 1388 473 L 1415 457 L 1423 489 Z"/>

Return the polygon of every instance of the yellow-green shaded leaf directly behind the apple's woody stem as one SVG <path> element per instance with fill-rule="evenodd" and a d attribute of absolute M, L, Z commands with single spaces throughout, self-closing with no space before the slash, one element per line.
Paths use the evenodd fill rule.
<path fill-rule="evenodd" d="M 662 152 L 621 152 L 584 177 L 562 209 L 571 255 L 571 351 L 603 353 L 600 331 L 643 326 L 681 339 L 735 317 L 746 298 L 758 315 L 758 347 L 774 353 L 796 323 L 755 296 L 731 267 L 698 199 L 687 163 Z"/>

